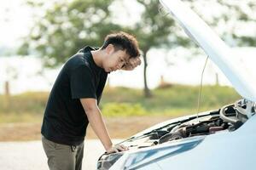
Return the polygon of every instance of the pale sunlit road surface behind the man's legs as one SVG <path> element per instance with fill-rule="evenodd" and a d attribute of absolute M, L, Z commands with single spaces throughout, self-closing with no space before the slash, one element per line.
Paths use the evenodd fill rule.
<path fill-rule="evenodd" d="M 119 143 L 120 139 L 113 139 Z M 104 152 L 99 140 L 84 141 L 83 170 L 95 170 L 96 161 Z M 47 158 L 41 141 L 0 142 L 1 170 L 47 170 Z"/>

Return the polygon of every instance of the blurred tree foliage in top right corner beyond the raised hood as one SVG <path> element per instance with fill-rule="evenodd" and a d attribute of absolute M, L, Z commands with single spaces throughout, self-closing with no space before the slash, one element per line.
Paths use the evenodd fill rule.
<path fill-rule="evenodd" d="M 231 47 L 256 46 L 256 1 L 186 0 Z M 204 9 L 209 9 L 207 14 Z M 212 8 L 212 10 L 210 10 Z M 213 12 L 212 12 L 213 11 Z M 216 12 L 217 11 L 217 12 Z M 211 17 L 207 15 L 211 14 Z M 247 29 L 250 27 L 250 29 Z M 222 28 L 222 29 L 220 29 Z M 248 31 L 249 30 L 249 31 Z"/>

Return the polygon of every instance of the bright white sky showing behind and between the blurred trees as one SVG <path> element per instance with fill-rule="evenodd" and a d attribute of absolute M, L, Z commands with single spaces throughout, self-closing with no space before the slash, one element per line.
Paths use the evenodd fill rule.
<path fill-rule="evenodd" d="M 20 43 L 19 38 L 25 36 L 32 26 L 32 11 L 27 8 L 23 0 L 0 1 L 0 46 L 15 47 Z M 131 13 L 140 12 L 141 8 L 132 8 L 134 4 L 125 0 L 125 5 L 131 8 Z M 119 4 L 117 4 L 119 5 Z M 127 14 L 131 15 L 131 14 Z M 136 15 L 131 15 L 136 16 Z M 129 17 L 128 17 L 129 18 Z M 117 20 L 119 16 L 117 16 Z M 137 18 L 130 18 L 134 21 Z M 256 50 L 243 49 L 238 51 Z M 166 82 L 198 85 L 201 79 L 201 71 L 206 59 L 205 55 L 186 59 L 190 55 L 189 50 L 177 48 L 176 51 L 161 51 L 153 49 L 148 54 L 148 86 L 155 88 L 160 83 L 160 77 Z M 241 54 L 242 55 L 242 54 Z M 165 57 L 168 56 L 174 65 L 167 66 Z M 254 55 L 255 56 L 255 55 Z M 254 59 L 252 63 L 256 63 Z M 60 68 L 47 70 L 40 59 L 35 57 L 3 57 L 0 56 L 0 94 L 3 94 L 4 82 L 9 80 L 10 90 L 13 94 L 26 91 L 49 91 Z M 43 72 L 42 72 L 43 71 Z M 230 85 L 210 60 L 204 75 L 205 84 L 214 84 L 216 73 L 219 75 L 221 85 Z M 134 71 L 116 71 L 109 75 L 108 84 L 111 86 L 125 86 L 130 88 L 143 88 L 143 65 Z"/>

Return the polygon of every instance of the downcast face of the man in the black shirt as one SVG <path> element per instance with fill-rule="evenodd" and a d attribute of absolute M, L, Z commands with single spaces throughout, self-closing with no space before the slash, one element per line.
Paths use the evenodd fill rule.
<path fill-rule="evenodd" d="M 103 59 L 102 66 L 106 72 L 120 70 L 129 60 L 130 56 L 125 53 L 125 50 L 107 51 L 106 57 Z"/>

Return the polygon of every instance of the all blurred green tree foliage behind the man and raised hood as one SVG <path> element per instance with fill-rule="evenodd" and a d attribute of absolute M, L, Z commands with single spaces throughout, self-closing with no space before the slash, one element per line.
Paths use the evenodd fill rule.
<path fill-rule="evenodd" d="M 55 0 L 27 2 L 32 8 L 38 8 L 42 14 L 35 19 L 34 26 L 20 46 L 20 54 L 35 53 L 44 58 L 47 66 L 62 65 L 84 45 L 101 46 L 103 38 L 113 31 L 127 31 L 137 37 L 143 52 L 144 62 L 144 94 L 150 97 L 147 83 L 147 54 L 152 48 L 168 49 L 177 46 L 195 46 L 184 32 L 172 20 L 169 14 L 162 14 L 159 1 L 135 0 L 143 7 L 143 13 L 137 16 L 135 24 L 122 26 L 113 22 L 111 5 L 118 0 Z M 224 0 L 184 0 L 207 21 L 213 28 L 222 27 L 218 34 L 231 46 L 255 46 L 253 35 L 241 35 L 241 23 L 255 23 L 256 3 L 254 0 L 224 1 Z M 209 4 L 217 4 L 219 12 L 211 19 L 205 15 Z M 124 8 L 125 10 L 129 10 Z M 165 12 L 164 12 L 165 13 Z M 125 18 L 124 18 L 125 20 Z M 256 32 L 256 31 L 254 31 Z M 246 32 L 247 33 L 247 32 Z"/>

